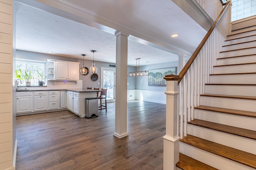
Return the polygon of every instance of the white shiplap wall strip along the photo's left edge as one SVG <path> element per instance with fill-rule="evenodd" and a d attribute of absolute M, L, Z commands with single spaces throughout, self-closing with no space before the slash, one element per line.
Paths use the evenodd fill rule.
<path fill-rule="evenodd" d="M 0 0 L 0 170 L 12 164 L 13 1 Z"/>

